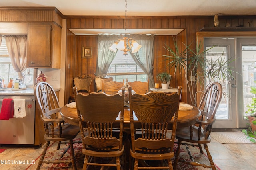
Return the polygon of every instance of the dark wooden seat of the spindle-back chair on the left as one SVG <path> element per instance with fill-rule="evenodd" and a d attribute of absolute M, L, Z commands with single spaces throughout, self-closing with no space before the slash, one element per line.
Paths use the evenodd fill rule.
<path fill-rule="evenodd" d="M 61 137 L 57 137 L 58 134 L 58 127 L 54 129 L 54 138 L 52 138 L 51 132 L 49 132 L 49 137 L 45 134 L 44 140 L 46 141 L 66 141 L 70 139 L 74 139 L 76 135 L 80 132 L 80 128 L 78 126 L 70 125 L 65 123 L 61 125 L 62 127 L 62 134 Z"/>

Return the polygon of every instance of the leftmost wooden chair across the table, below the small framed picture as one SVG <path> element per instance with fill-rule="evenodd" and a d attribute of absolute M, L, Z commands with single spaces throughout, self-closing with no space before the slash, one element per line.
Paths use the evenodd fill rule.
<path fill-rule="evenodd" d="M 92 83 L 92 77 L 86 76 L 82 74 L 81 76 L 77 76 L 73 79 L 74 85 L 76 86 L 78 92 L 82 92 L 84 94 L 90 93 L 90 86 Z M 70 102 L 74 102 L 75 97 L 74 94 L 70 96 Z"/>

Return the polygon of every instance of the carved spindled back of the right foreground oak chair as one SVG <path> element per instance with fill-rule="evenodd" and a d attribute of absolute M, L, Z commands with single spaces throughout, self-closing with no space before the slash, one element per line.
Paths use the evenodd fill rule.
<path fill-rule="evenodd" d="M 179 86 L 178 92 L 172 94 L 149 92 L 131 95 L 129 88 L 131 152 L 144 154 L 173 152 L 181 91 L 182 87 Z M 142 134 L 137 139 L 134 135 L 133 111 L 142 125 Z M 172 136 L 168 138 L 166 137 L 168 123 L 173 117 Z"/>

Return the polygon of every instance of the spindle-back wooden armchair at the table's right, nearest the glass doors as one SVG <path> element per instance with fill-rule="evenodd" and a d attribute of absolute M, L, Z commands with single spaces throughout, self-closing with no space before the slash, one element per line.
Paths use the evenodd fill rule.
<path fill-rule="evenodd" d="M 218 82 L 214 82 L 210 84 L 204 94 L 202 99 L 199 103 L 198 109 L 201 111 L 201 117 L 196 122 L 195 125 L 190 127 L 183 127 L 179 128 L 176 131 L 176 139 L 178 139 L 178 147 L 176 150 L 175 162 L 174 162 L 174 169 L 177 169 L 178 162 L 186 162 L 184 160 L 179 160 L 179 153 L 180 153 L 180 145 L 186 145 L 186 148 L 189 149 L 187 146 L 190 145 L 192 147 L 198 147 L 200 152 L 203 154 L 202 146 L 204 145 L 204 149 L 206 150 L 208 159 L 210 161 L 210 166 L 206 164 L 201 164 L 199 162 L 195 162 L 194 158 L 191 155 L 190 150 L 188 150 L 188 154 L 190 155 L 190 159 L 192 161 L 187 161 L 193 166 L 204 166 L 204 168 L 212 168 L 216 170 L 214 162 L 212 160 L 212 156 L 209 152 L 207 143 L 210 143 L 211 137 L 210 133 L 212 131 L 212 125 L 215 122 L 215 114 L 218 109 L 222 98 L 222 85 Z M 188 143 L 182 143 L 188 142 Z M 192 144 L 191 144 L 192 143 Z"/>

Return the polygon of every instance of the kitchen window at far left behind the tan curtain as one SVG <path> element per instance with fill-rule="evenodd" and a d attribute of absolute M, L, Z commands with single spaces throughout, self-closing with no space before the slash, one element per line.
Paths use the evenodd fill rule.
<path fill-rule="evenodd" d="M 33 87 L 34 82 L 34 70 L 33 68 L 27 68 L 24 72 L 25 84 L 27 87 Z M 4 85 L 8 85 L 8 80 L 13 78 L 16 80 L 18 78 L 18 73 L 12 67 L 10 55 L 6 47 L 5 38 L 2 37 L 2 43 L 0 46 L 0 77 L 4 79 Z M 19 79 L 19 78 L 18 78 Z"/>

